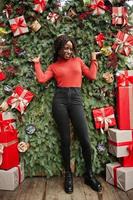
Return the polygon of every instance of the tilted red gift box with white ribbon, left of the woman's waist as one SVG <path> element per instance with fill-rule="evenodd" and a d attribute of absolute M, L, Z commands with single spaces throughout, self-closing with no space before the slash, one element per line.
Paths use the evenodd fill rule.
<path fill-rule="evenodd" d="M 11 108 L 15 108 L 23 114 L 33 97 L 34 94 L 32 92 L 22 86 L 17 86 L 13 94 L 7 99 L 7 103 Z"/>

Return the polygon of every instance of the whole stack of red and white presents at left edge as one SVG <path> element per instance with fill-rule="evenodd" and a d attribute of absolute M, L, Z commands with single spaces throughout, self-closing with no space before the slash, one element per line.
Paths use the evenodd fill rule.
<path fill-rule="evenodd" d="M 23 180 L 15 116 L 12 112 L 0 112 L 0 189 L 14 190 Z"/>

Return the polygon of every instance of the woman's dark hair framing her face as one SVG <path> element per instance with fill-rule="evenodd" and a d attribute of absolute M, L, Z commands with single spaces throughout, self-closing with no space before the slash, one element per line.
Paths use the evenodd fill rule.
<path fill-rule="evenodd" d="M 76 43 L 75 43 L 74 39 L 72 39 L 68 35 L 59 35 L 54 41 L 54 51 L 55 51 L 54 58 L 53 58 L 54 62 L 56 62 L 58 60 L 58 52 L 65 46 L 65 44 L 68 41 L 71 41 L 73 44 L 74 54 L 77 53 L 77 47 L 76 47 Z"/>

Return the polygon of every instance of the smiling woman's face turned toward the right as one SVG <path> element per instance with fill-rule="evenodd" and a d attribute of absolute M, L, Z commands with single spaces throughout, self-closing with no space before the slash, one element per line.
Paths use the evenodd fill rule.
<path fill-rule="evenodd" d="M 73 56 L 73 44 L 71 41 L 68 41 L 65 46 L 60 49 L 59 56 L 65 60 L 69 60 Z"/>

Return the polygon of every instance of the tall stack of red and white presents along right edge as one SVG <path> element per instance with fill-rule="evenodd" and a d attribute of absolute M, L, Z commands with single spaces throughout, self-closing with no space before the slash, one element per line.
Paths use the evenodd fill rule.
<path fill-rule="evenodd" d="M 119 162 L 106 165 L 106 181 L 127 191 L 133 188 L 133 70 L 117 74 L 118 129 L 108 130 L 109 152 Z"/>

